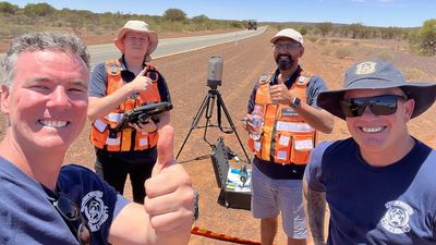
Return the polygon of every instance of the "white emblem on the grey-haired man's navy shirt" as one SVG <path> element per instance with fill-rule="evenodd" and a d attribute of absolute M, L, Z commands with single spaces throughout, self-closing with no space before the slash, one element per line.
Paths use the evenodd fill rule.
<path fill-rule="evenodd" d="M 102 223 L 108 219 L 108 207 L 101 199 L 102 192 L 89 192 L 82 198 L 81 212 L 88 219 L 92 232 L 98 231 Z"/>

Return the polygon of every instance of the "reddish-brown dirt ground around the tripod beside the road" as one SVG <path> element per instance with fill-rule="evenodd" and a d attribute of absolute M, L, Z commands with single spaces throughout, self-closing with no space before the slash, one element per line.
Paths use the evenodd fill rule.
<path fill-rule="evenodd" d="M 175 154 L 179 151 L 186 137 L 193 118 L 208 91 L 206 76 L 208 59 L 211 56 L 221 56 L 223 58 L 222 86 L 218 87 L 218 89 L 237 125 L 244 147 L 249 150 L 245 144 L 247 135 L 243 131 L 239 120 L 245 114 L 246 101 L 254 82 L 263 72 L 272 71 L 275 69 L 272 50 L 269 44 L 269 38 L 274 34 L 275 32 L 269 29 L 263 35 L 238 42 L 219 45 L 199 51 L 186 52 L 152 61 L 167 78 L 171 91 L 174 105 L 174 109 L 171 112 L 171 123 L 175 128 Z M 341 87 L 343 73 L 352 63 L 368 54 L 371 56 L 371 53 L 380 52 L 389 53 L 390 59 L 401 69 L 413 68 L 420 70 L 420 78 L 422 81 L 436 79 L 434 73 L 435 69 L 424 69 L 427 65 L 434 68 L 436 64 L 435 58 L 422 59 L 409 54 L 404 50 L 397 50 L 396 45 L 380 45 L 376 41 L 368 45 L 366 44 L 367 41 L 365 41 L 359 45 L 359 47 L 350 46 L 355 49 L 352 56 L 338 59 L 334 54 L 329 54 L 329 52 L 325 50 L 325 46 L 311 41 L 306 42 L 305 53 L 301 60 L 302 66 L 323 77 L 327 82 L 329 88 L 336 89 Z M 334 49 L 337 49 L 346 45 L 346 41 L 341 41 L 331 46 Z M 368 52 L 368 49 L 373 51 Z M 397 56 L 401 57 L 399 61 L 396 60 Z M 412 62 L 414 60 L 420 60 L 420 62 Z M 434 130 L 429 128 L 433 128 L 435 125 L 435 112 L 436 106 L 433 106 L 425 114 L 409 123 L 412 135 L 434 148 L 436 147 L 436 134 Z M 216 111 L 214 111 L 211 119 L 215 121 L 215 124 L 216 118 Z M 223 124 L 228 125 L 223 115 L 222 121 Z M 202 118 L 198 125 L 205 125 L 205 117 Z M 88 143 L 88 128 L 89 125 L 87 124 L 82 135 L 68 152 L 65 162 L 78 162 L 93 169 L 95 156 L 93 147 Z M 193 185 L 201 194 L 201 217 L 194 225 L 240 238 L 259 241 L 259 223 L 251 217 L 250 211 L 227 209 L 217 204 L 219 188 L 215 181 L 210 159 L 192 160 L 196 157 L 210 154 L 210 147 L 203 140 L 203 133 L 204 131 L 201 128 L 195 128 L 192 132 L 179 159 L 181 162 L 184 162 L 184 167 L 192 176 Z M 4 124 L 1 124 L 0 135 L 3 134 Z M 241 159 L 244 159 L 244 155 L 242 154 L 234 134 L 226 135 L 219 132 L 218 128 L 208 128 L 207 138 L 210 143 L 215 143 L 219 136 L 223 136 L 226 144 L 237 151 Z M 347 127 L 342 121 L 336 120 L 334 133 L 329 135 L 320 134 L 319 139 L 329 140 L 344 137 L 348 137 Z M 126 196 L 131 196 L 129 184 L 126 185 L 125 193 Z M 219 245 L 229 243 L 192 235 L 190 244 Z M 276 244 L 286 244 L 286 236 L 281 229 L 278 231 Z"/>

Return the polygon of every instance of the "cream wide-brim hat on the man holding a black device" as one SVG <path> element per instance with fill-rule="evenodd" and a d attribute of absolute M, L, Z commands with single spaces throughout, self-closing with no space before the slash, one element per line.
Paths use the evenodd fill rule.
<path fill-rule="evenodd" d="M 145 33 L 148 35 L 148 49 L 144 59 L 145 61 L 150 61 L 150 54 L 156 50 L 158 44 L 157 33 L 150 30 L 148 24 L 143 21 L 128 21 L 118 32 L 117 38 L 113 40 L 113 44 L 122 53 L 124 53 L 124 44 L 122 42 L 122 39 L 128 32 Z"/>

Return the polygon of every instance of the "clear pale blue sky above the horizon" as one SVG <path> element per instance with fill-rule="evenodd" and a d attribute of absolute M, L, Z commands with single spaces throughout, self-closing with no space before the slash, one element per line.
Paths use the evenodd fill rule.
<path fill-rule="evenodd" d="M 8 0 L 5 0 L 8 1 Z M 436 0 L 10 0 L 20 8 L 47 2 L 56 9 L 162 15 L 171 8 L 187 17 L 219 20 L 362 23 L 366 26 L 417 27 L 436 19 Z"/>

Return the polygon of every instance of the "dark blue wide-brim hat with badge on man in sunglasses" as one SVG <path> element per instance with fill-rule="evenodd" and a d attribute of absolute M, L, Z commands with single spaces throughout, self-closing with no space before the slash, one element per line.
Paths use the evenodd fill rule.
<path fill-rule="evenodd" d="M 395 87 L 415 101 L 412 119 L 426 111 L 436 100 L 436 84 L 407 82 L 401 71 L 389 61 L 367 60 L 347 70 L 342 89 L 322 91 L 316 101 L 318 107 L 344 120 L 340 100 L 347 90 Z"/>

